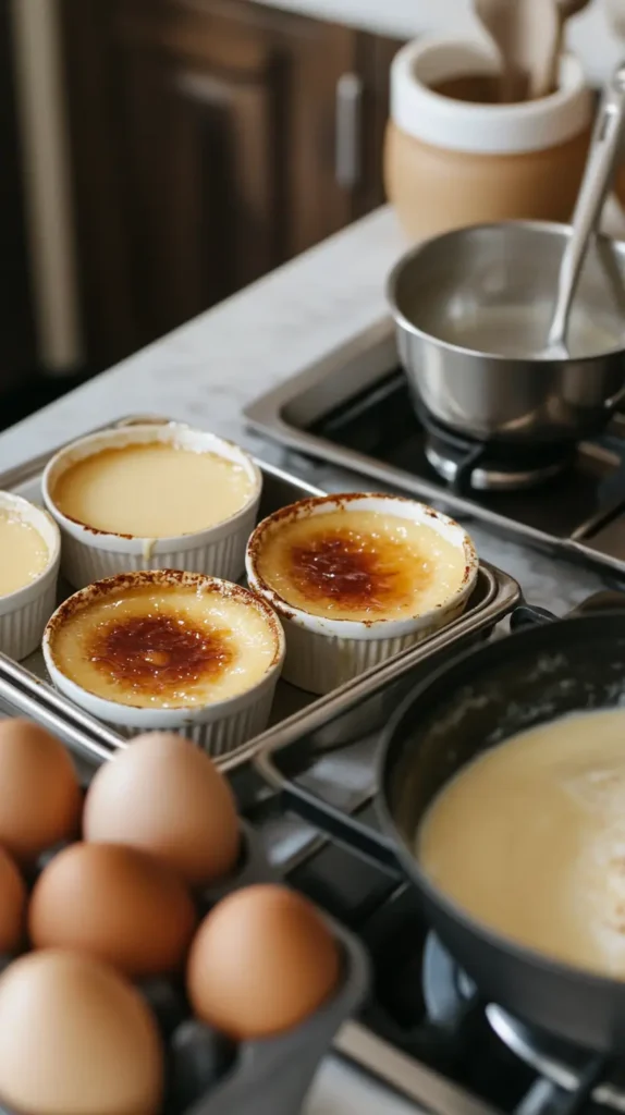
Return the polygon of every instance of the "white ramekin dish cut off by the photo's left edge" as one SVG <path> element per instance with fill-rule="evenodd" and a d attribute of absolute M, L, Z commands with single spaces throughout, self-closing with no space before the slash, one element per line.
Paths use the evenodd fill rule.
<path fill-rule="evenodd" d="M 19 661 L 37 650 L 56 608 L 61 537 L 53 518 L 19 495 L 0 492 L 0 511 L 12 512 L 30 523 L 48 546 L 48 564 L 39 576 L 14 592 L 0 595 L 0 651 Z"/>

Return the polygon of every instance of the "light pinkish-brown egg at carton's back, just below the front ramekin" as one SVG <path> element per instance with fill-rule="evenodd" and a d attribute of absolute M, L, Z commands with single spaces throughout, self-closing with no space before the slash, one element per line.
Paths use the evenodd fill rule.
<path fill-rule="evenodd" d="M 192 886 L 235 866 L 238 817 L 225 778 L 182 736 L 137 736 L 94 778 L 84 814 L 88 841 L 131 844 L 157 855 Z"/>

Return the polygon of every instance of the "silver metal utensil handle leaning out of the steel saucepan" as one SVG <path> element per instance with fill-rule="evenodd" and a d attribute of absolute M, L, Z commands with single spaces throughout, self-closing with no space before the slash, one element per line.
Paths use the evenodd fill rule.
<path fill-rule="evenodd" d="M 618 152 L 625 118 L 625 62 L 615 70 L 597 115 L 588 163 L 573 214 L 572 233 L 560 265 L 556 310 L 549 331 L 549 343 L 564 341 L 570 303 L 577 288 L 588 237 L 594 232 Z"/>

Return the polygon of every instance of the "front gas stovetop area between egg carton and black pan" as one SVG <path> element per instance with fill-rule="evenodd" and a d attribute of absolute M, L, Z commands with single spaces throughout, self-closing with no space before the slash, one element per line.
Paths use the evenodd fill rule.
<path fill-rule="evenodd" d="M 625 593 L 596 594 L 576 612 L 616 607 L 625 608 Z M 529 605 L 517 617 L 538 621 Z M 625 1060 L 613 1064 L 530 1030 L 485 1001 L 398 870 L 336 843 L 331 826 L 313 827 L 310 815 L 303 822 L 306 809 L 289 812 L 296 785 L 378 828 L 378 744 L 372 734 L 329 748 L 311 735 L 274 748 L 260 760 L 264 793 L 246 809 L 290 883 L 358 933 L 372 959 L 369 1001 L 335 1049 L 433 1115 L 625 1112 Z"/>

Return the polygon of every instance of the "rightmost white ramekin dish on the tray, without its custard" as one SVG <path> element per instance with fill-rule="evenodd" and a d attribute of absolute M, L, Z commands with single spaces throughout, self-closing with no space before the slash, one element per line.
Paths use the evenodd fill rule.
<path fill-rule="evenodd" d="M 334 511 L 373 511 L 423 523 L 462 550 L 465 571 L 458 591 L 431 611 L 408 619 L 331 620 L 294 608 L 261 576 L 258 559 L 271 533 L 311 515 Z M 285 681 L 313 694 L 326 694 L 407 647 L 422 642 L 463 611 L 478 574 L 478 556 L 469 535 L 452 518 L 395 495 L 350 492 L 301 500 L 264 518 L 247 543 L 250 588 L 277 612 L 286 636 Z"/>

